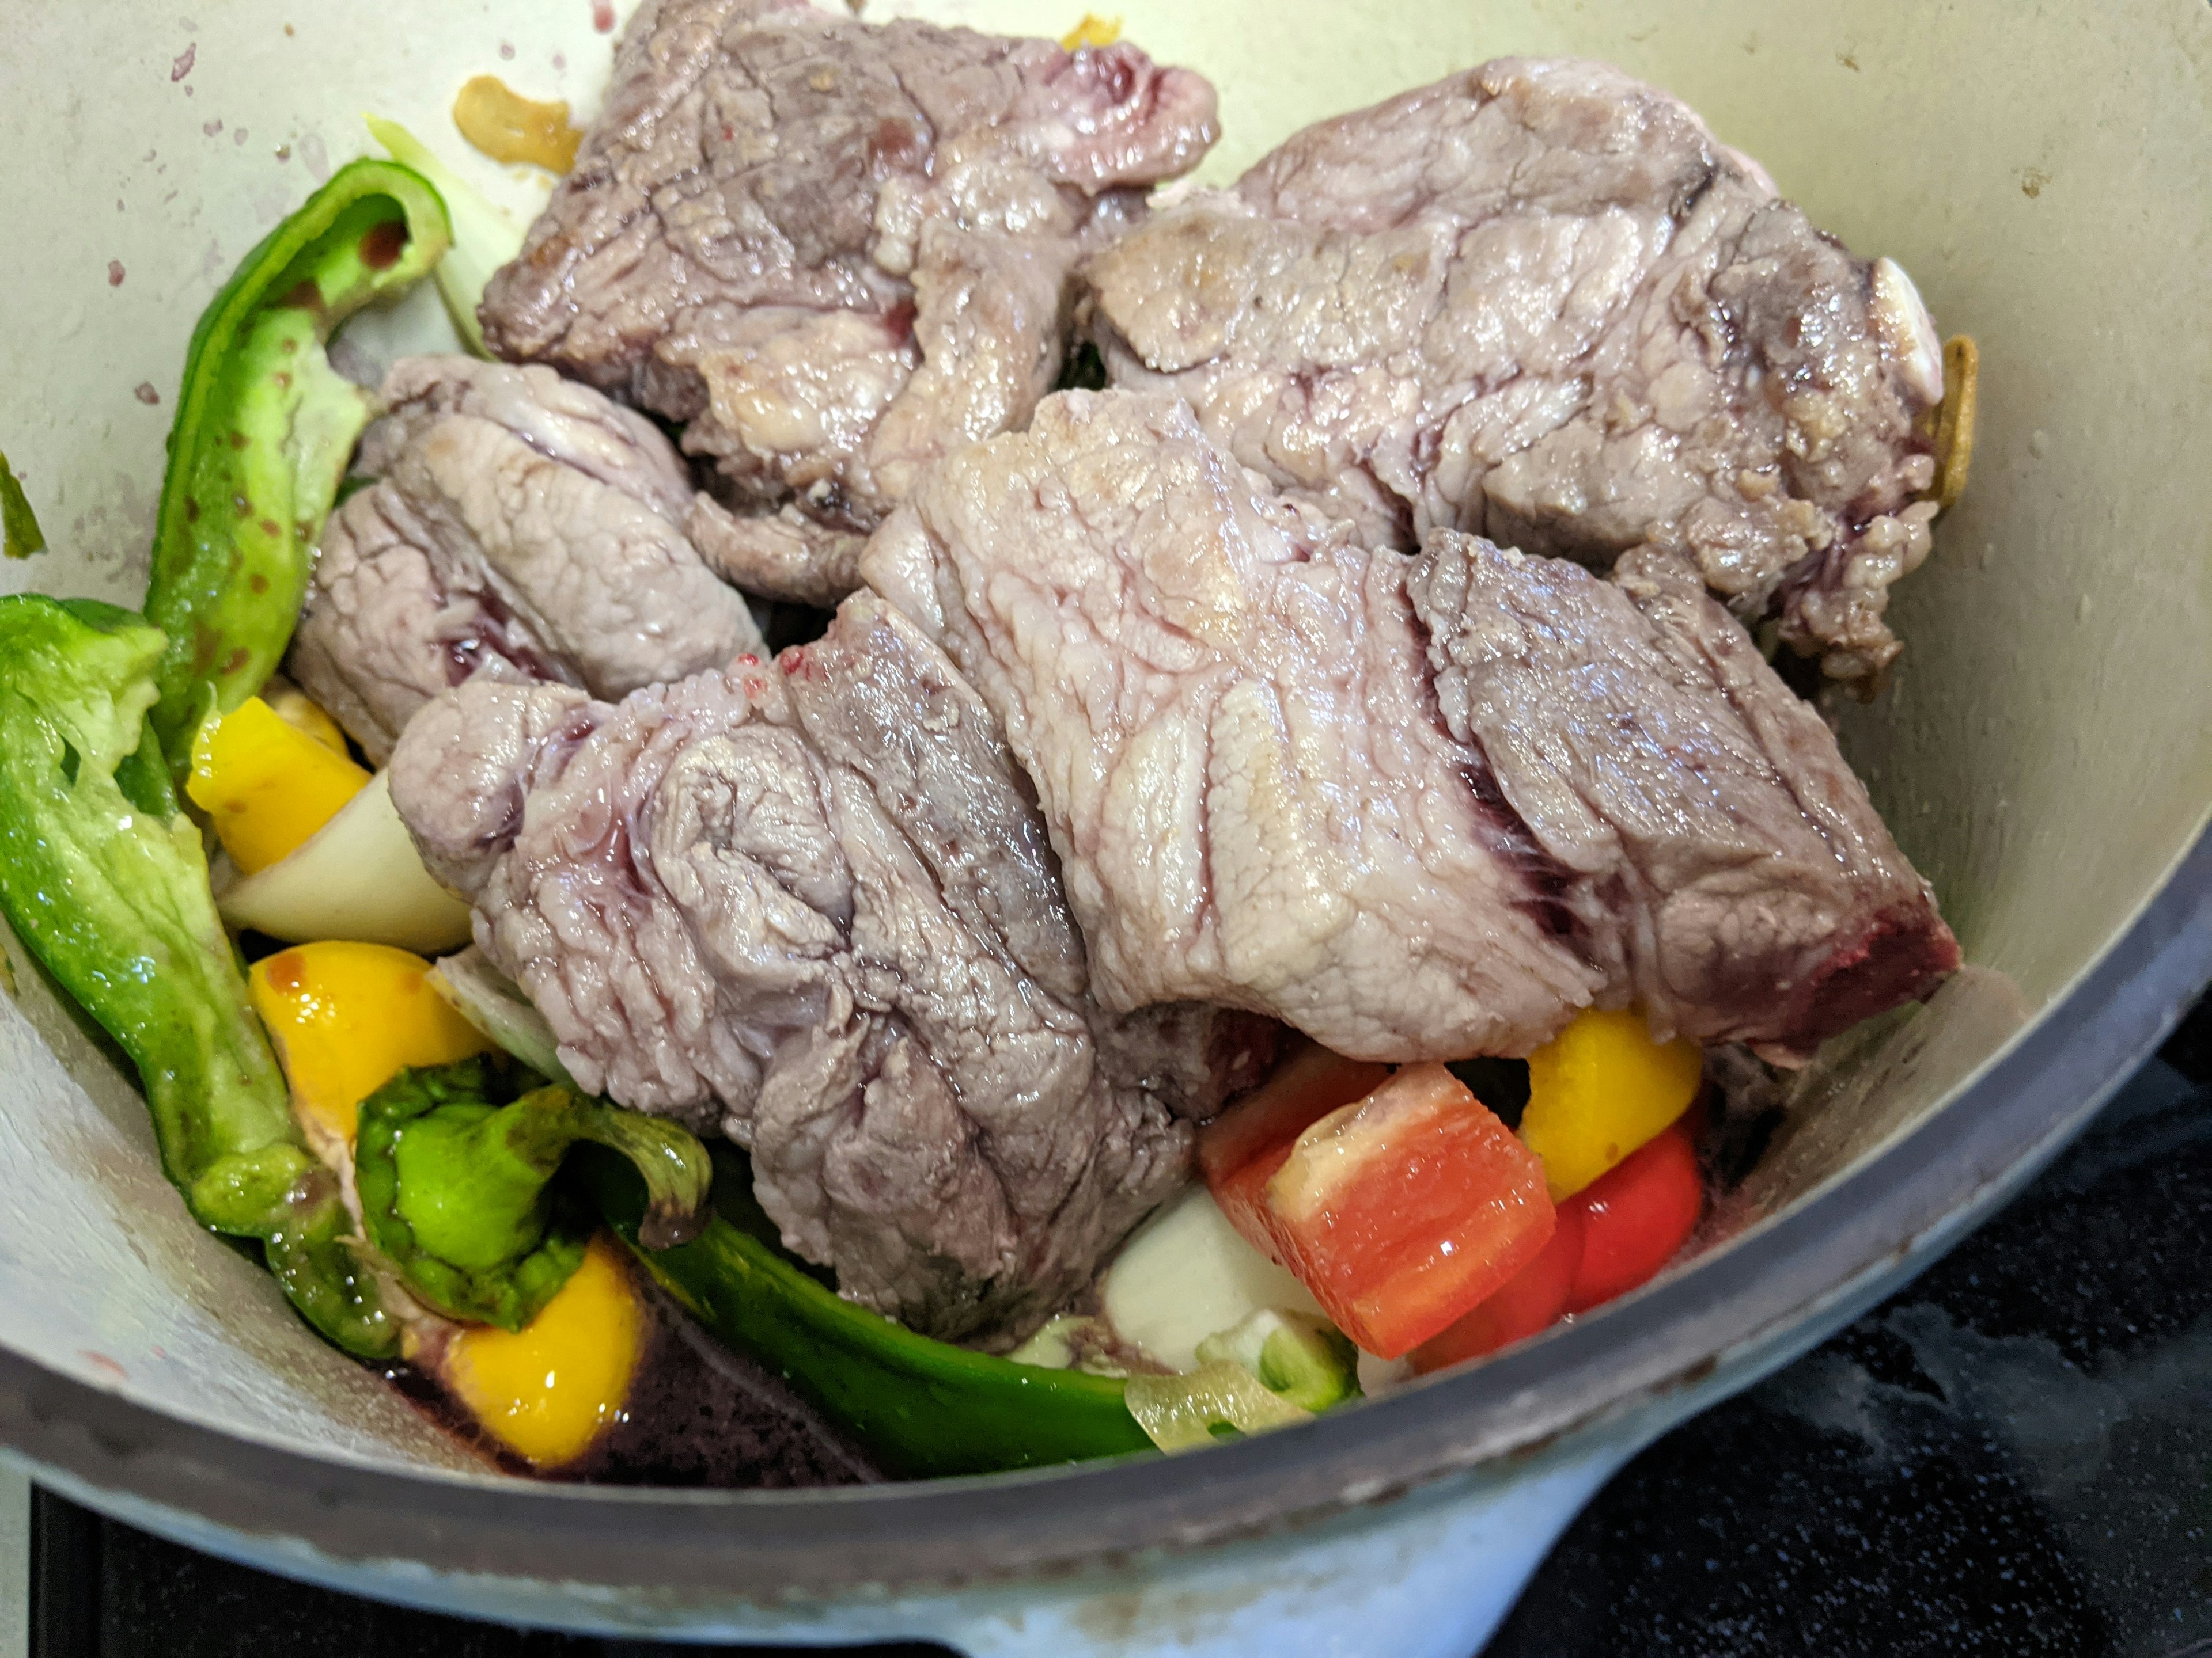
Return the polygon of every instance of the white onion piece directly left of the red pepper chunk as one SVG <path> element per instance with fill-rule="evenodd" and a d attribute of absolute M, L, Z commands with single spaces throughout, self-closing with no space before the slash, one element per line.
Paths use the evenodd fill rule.
<path fill-rule="evenodd" d="M 1203 1185 L 1121 1245 L 1099 1282 L 1099 1304 L 1121 1344 L 1170 1371 L 1199 1368 L 1199 1342 L 1261 1309 L 1321 1315 L 1305 1284 L 1254 1249 Z"/>

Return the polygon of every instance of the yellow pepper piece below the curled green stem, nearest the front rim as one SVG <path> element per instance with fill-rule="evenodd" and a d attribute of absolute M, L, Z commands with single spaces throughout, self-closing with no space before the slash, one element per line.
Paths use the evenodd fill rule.
<path fill-rule="evenodd" d="M 471 1324 L 438 1364 L 487 1433 L 538 1468 L 582 1457 L 630 1397 L 646 1313 L 599 1234 L 560 1293 L 520 1331 Z"/>

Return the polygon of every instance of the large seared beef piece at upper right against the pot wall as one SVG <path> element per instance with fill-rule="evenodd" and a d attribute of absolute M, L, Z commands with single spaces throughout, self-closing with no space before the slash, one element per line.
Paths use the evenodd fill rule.
<path fill-rule="evenodd" d="M 1650 542 L 1829 674 L 1927 557 L 1933 325 L 1681 102 L 1500 60 L 1310 126 L 1086 267 L 1117 385 L 1411 548 L 1599 568 Z"/>

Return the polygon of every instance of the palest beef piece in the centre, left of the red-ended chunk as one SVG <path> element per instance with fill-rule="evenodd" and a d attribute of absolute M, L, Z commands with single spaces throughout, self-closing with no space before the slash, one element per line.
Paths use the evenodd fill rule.
<path fill-rule="evenodd" d="M 1429 710 L 1405 559 L 1170 398 L 1066 391 L 936 469 L 869 579 L 1037 785 L 1115 1010 L 1217 1001 L 1369 1059 L 1524 1052 L 1599 990 Z"/>

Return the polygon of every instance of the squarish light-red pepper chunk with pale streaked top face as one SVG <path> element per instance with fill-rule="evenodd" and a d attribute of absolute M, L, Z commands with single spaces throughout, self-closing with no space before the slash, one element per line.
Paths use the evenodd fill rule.
<path fill-rule="evenodd" d="M 1544 1165 L 1442 1066 L 1407 1066 L 1292 1145 L 1263 1192 L 1276 1256 L 1394 1360 L 1464 1318 L 1553 1231 Z"/>

